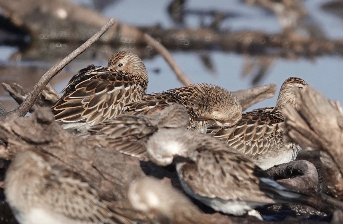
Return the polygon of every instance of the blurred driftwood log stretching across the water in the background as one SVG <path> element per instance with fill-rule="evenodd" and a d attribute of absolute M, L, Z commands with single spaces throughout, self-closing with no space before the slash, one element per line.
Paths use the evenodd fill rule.
<path fill-rule="evenodd" d="M 26 5 L 25 9 L 21 7 Z M 36 40 L 80 41 L 92 36 L 107 21 L 102 15 L 67 0 L 0 0 L 2 13 Z M 87 15 L 87 16 L 85 16 Z M 39 18 L 39 19 L 38 19 Z M 213 49 L 252 55 L 308 57 L 343 53 L 341 40 L 307 37 L 294 33 L 269 34 L 249 31 L 213 29 L 162 29 L 158 26 L 137 27 L 117 22 L 99 42 L 146 45 L 144 32 L 170 49 Z M 43 41 L 42 41 L 43 42 Z"/>

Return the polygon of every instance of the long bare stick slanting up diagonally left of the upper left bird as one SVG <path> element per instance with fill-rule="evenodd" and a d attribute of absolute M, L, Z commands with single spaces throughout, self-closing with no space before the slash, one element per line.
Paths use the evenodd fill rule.
<path fill-rule="evenodd" d="M 75 51 L 70 53 L 67 57 L 63 58 L 57 65 L 50 68 L 45 74 L 40 78 L 38 83 L 34 86 L 33 90 L 27 95 L 26 99 L 22 104 L 10 113 L 16 114 L 18 116 L 24 116 L 29 109 L 35 104 L 38 99 L 39 94 L 42 92 L 44 87 L 48 82 L 54 77 L 59 71 L 62 70 L 66 65 L 70 63 L 74 58 L 83 53 L 88 47 L 90 47 L 94 42 L 96 42 L 113 24 L 115 24 L 115 19 L 110 19 L 96 34 L 89 38 L 80 47 L 76 48 Z"/>

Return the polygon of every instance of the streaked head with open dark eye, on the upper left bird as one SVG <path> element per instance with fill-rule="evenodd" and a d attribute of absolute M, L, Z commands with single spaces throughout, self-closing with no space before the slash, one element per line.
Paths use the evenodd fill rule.
<path fill-rule="evenodd" d="M 138 55 L 120 51 L 108 59 L 108 67 L 118 71 L 126 71 L 133 75 L 147 76 L 145 65 Z"/>

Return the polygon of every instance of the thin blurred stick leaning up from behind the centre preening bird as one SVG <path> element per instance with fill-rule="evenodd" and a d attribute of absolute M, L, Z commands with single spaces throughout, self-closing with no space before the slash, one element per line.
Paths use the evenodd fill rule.
<path fill-rule="evenodd" d="M 176 74 L 177 79 L 182 82 L 184 85 L 191 84 L 191 80 L 182 72 L 180 67 L 176 64 L 176 61 L 174 60 L 173 56 L 169 53 L 167 48 L 165 48 L 161 43 L 157 42 L 154 38 L 152 38 L 149 34 L 144 33 L 143 35 L 144 40 L 147 45 L 151 46 L 155 49 L 162 57 L 167 61 L 171 69 Z"/>

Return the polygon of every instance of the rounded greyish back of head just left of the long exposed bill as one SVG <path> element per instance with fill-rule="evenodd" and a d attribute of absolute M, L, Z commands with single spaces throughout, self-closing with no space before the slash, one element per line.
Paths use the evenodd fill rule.
<path fill-rule="evenodd" d="M 158 119 L 158 128 L 184 128 L 189 126 L 189 115 L 181 104 L 172 104 L 165 108 Z"/>

